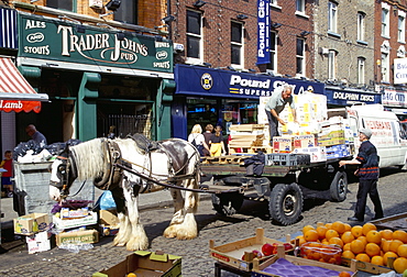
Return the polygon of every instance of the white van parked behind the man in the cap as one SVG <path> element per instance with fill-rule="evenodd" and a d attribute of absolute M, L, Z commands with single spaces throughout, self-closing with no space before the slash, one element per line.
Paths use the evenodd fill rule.
<path fill-rule="evenodd" d="M 328 110 L 328 118 L 334 115 L 348 119 L 356 152 L 360 146 L 359 130 L 370 129 L 371 142 L 380 156 L 380 167 L 406 166 L 407 137 L 395 113 L 385 111 L 382 104 L 361 104 Z"/>

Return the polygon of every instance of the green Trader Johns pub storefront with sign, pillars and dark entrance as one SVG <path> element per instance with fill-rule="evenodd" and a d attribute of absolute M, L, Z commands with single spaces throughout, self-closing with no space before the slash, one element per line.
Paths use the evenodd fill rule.
<path fill-rule="evenodd" d="M 19 14 L 19 69 L 51 100 L 34 118 L 21 114 L 19 125 L 34 123 L 48 143 L 169 137 L 172 42 L 62 18 Z"/>

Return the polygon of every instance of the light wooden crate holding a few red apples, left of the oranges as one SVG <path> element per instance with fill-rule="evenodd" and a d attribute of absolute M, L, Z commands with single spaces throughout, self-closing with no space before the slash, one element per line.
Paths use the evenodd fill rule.
<path fill-rule="evenodd" d="M 286 241 L 287 242 L 290 241 L 289 235 L 287 235 Z M 277 243 L 278 245 L 284 245 L 284 242 L 265 237 L 264 230 L 258 228 L 256 230 L 255 236 L 243 239 L 241 241 L 215 246 L 215 241 L 210 240 L 209 241 L 209 252 L 212 258 L 217 259 L 218 262 L 222 264 L 227 264 L 242 272 L 251 272 L 253 267 L 253 261 L 243 261 L 243 256 L 248 257 L 246 253 L 251 253 L 254 250 L 261 252 L 262 246 L 265 243 L 270 243 L 270 244 Z M 294 250 L 295 245 L 292 243 L 290 245 L 293 246 L 293 250 Z M 290 251 L 287 251 L 287 252 L 290 252 Z M 267 258 L 272 256 L 273 255 L 264 256 L 260 258 L 260 263 L 266 261 Z"/>

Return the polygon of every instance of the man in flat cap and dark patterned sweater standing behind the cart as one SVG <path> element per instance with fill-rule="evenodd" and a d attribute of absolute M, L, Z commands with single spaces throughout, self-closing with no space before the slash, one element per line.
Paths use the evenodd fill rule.
<path fill-rule="evenodd" d="M 358 201 L 354 215 L 348 218 L 350 221 L 364 221 L 367 195 L 374 204 L 375 215 L 373 220 L 383 218 L 382 202 L 377 191 L 378 156 L 376 147 L 370 142 L 371 136 L 371 130 L 361 129 L 359 131 L 359 140 L 362 144 L 359 147 L 358 156 L 352 160 L 339 162 L 339 166 L 359 165 L 359 169 L 355 171 L 355 175 L 359 177 Z"/>

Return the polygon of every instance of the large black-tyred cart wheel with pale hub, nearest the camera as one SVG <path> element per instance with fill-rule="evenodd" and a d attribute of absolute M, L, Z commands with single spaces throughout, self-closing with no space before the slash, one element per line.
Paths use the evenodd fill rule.
<path fill-rule="evenodd" d="M 293 184 L 277 184 L 270 198 L 270 214 L 283 225 L 294 224 L 302 211 L 302 191 Z"/>

